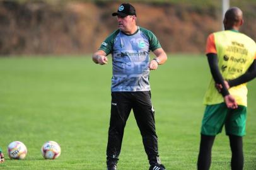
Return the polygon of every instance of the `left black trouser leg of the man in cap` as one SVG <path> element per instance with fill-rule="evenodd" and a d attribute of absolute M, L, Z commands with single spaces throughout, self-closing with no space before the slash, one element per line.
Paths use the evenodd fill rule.
<path fill-rule="evenodd" d="M 124 127 L 131 112 L 131 93 L 112 92 L 110 125 L 108 128 L 107 166 L 115 169 L 122 146 Z M 111 168 L 113 167 L 113 168 Z"/>

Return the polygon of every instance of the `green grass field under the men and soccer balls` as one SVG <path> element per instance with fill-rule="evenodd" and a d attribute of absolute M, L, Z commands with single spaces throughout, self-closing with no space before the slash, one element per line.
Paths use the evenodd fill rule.
<path fill-rule="evenodd" d="M 151 72 L 161 161 L 167 169 L 196 169 L 202 98 L 210 74 L 206 57 L 169 55 Z M 111 60 L 111 59 L 110 59 Z M 90 57 L 0 58 L 0 169 L 105 169 L 112 64 Z M 256 81 L 248 83 L 245 169 L 256 169 Z M 10 160 L 7 146 L 20 140 L 28 154 Z M 43 159 L 47 140 L 61 145 L 61 156 Z M 230 169 L 228 137 L 221 133 L 212 149 L 211 169 Z M 131 113 L 125 127 L 120 170 L 145 170 L 148 161 Z"/>

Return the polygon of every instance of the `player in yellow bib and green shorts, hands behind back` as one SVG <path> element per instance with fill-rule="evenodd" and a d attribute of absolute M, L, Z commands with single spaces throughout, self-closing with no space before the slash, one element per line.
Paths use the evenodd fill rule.
<path fill-rule="evenodd" d="M 207 38 L 206 55 L 212 80 L 204 97 L 206 110 L 202 118 L 201 143 L 197 169 L 209 169 L 211 149 L 225 126 L 230 139 L 231 169 L 243 169 L 243 140 L 247 116 L 246 82 L 256 77 L 256 45 L 238 30 L 243 13 L 230 8 L 224 16 L 224 31 Z"/>

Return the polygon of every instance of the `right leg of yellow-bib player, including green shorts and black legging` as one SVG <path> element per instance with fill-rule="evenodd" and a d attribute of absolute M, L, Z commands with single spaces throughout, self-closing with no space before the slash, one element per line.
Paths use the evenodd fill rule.
<path fill-rule="evenodd" d="M 243 135 L 245 135 L 245 125 L 247 108 L 238 106 L 235 110 L 230 110 L 225 123 L 226 135 L 230 138 L 231 169 L 243 169 Z"/>

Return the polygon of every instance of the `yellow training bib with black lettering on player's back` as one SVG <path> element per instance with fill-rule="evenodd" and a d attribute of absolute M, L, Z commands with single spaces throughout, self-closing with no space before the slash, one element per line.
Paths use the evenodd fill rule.
<path fill-rule="evenodd" d="M 218 55 L 219 71 L 224 80 L 231 80 L 240 77 L 247 72 L 248 68 L 255 59 L 255 42 L 236 31 L 219 31 L 213 33 L 214 43 Z M 247 106 L 247 86 L 246 83 L 228 89 L 230 94 L 235 97 L 238 105 Z M 204 104 L 215 105 L 223 103 L 223 96 L 215 88 L 215 82 L 211 82 L 204 96 Z"/>

